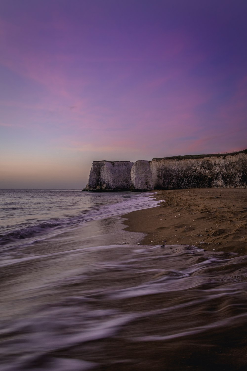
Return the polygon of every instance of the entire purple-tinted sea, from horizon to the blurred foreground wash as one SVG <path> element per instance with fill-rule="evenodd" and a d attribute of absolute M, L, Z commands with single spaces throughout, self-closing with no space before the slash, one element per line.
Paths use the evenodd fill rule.
<path fill-rule="evenodd" d="M 0 370 L 246 370 L 247 256 L 145 246 L 155 193 L 0 190 Z"/>

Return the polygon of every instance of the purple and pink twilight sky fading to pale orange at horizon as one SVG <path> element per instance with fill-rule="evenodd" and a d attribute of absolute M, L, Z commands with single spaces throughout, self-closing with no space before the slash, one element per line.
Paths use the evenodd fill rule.
<path fill-rule="evenodd" d="M 247 148 L 246 0 L 0 0 L 0 188 Z"/>

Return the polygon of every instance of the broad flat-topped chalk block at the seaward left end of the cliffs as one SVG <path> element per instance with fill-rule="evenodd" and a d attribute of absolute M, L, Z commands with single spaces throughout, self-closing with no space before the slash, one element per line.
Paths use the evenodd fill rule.
<path fill-rule="evenodd" d="M 130 161 L 93 161 L 85 191 L 130 190 Z"/>

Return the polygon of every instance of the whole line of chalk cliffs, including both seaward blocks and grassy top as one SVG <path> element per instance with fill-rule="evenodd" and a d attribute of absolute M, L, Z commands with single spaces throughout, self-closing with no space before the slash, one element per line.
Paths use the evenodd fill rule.
<path fill-rule="evenodd" d="M 152 161 L 94 161 L 86 191 L 148 191 L 183 188 L 247 188 L 247 153 L 153 158 Z M 207 157 L 211 156 L 211 157 Z M 192 156 L 191 156 L 192 157 Z"/>

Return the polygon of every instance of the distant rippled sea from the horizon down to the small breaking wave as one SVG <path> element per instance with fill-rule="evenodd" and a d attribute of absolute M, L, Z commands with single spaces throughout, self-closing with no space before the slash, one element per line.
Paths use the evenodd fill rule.
<path fill-rule="evenodd" d="M 0 244 L 156 206 L 150 197 L 130 192 L 0 189 Z"/>

